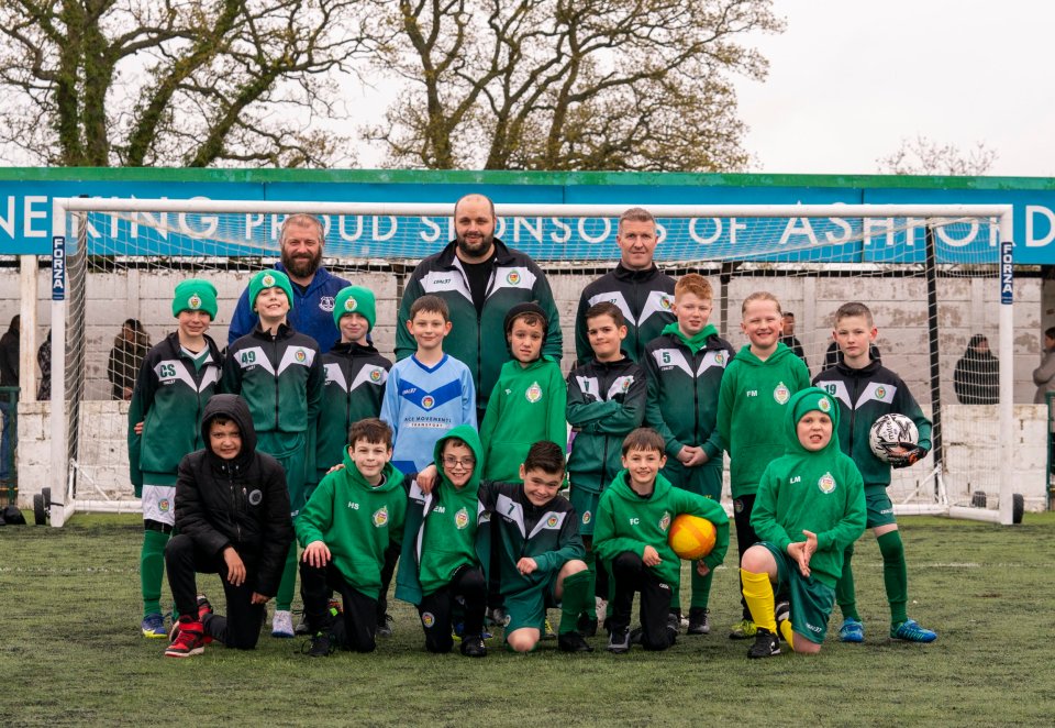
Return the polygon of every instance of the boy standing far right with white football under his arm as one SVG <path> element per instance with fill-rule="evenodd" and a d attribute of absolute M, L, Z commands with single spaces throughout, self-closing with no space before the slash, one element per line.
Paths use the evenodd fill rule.
<path fill-rule="evenodd" d="M 887 496 L 891 467 L 908 467 L 926 456 L 931 449 L 931 422 L 923 415 L 908 386 L 897 374 L 873 359 L 869 346 L 876 340 L 871 311 L 864 304 L 843 304 L 835 311 L 832 338 L 842 352 L 842 361 L 817 375 L 813 384 L 832 395 L 842 411 L 839 430 L 840 446 L 854 459 L 865 482 L 868 506 L 867 528 L 876 534 L 882 554 L 882 581 L 890 603 L 890 637 L 909 642 L 933 642 L 937 635 L 909 619 L 908 571 L 904 547 L 893 517 L 893 505 Z M 898 412 L 915 423 L 918 442 L 902 443 L 880 460 L 869 445 L 869 430 L 882 415 Z M 857 613 L 854 596 L 854 575 L 851 571 L 853 543 L 846 548 L 842 576 L 835 587 L 836 600 L 843 613 L 839 638 L 844 642 L 863 642 L 865 628 Z"/>

